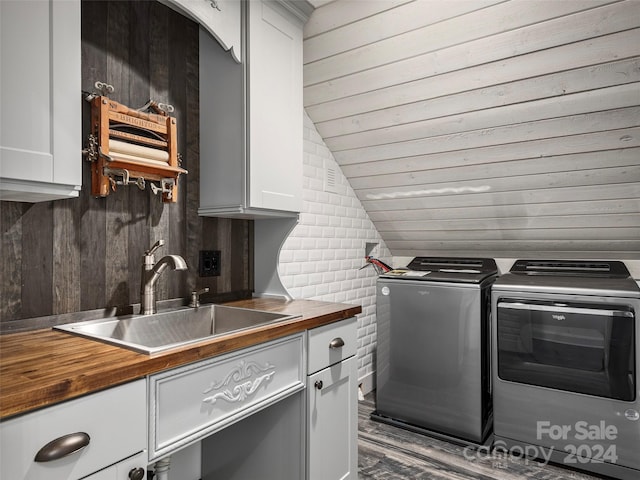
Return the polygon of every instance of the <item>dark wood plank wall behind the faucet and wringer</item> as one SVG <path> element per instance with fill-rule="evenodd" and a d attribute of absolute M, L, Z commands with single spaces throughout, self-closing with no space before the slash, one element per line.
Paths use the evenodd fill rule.
<path fill-rule="evenodd" d="M 215 301 L 250 296 L 252 222 L 197 214 L 198 26 L 159 2 L 83 1 L 83 90 L 93 91 L 96 81 L 113 85 L 111 97 L 134 108 L 149 98 L 175 107 L 178 151 L 189 171 L 179 200 L 163 204 L 135 186 L 93 198 L 83 161 L 80 198 L 0 202 L 0 322 L 138 303 L 142 255 L 159 239 L 165 246 L 157 258 L 179 254 L 189 266 L 162 275 L 159 300 L 203 287 Z M 80 92 L 78 102 L 86 138 L 89 104 Z M 221 250 L 220 277 L 199 277 L 200 250 Z"/>

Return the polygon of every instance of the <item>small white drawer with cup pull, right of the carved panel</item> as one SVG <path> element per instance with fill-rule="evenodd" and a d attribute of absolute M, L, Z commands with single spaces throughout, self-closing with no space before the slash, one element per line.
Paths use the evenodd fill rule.
<path fill-rule="evenodd" d="M 355 355 L 357 341 L 355 317 L 309 330 L 309 373 Z"/>

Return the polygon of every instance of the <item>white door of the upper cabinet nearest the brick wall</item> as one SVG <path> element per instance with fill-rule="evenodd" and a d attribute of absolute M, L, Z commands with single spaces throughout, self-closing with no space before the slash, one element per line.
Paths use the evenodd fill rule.
<path fill-rule="evenodd" d="M 302 204 L 302 22 L 268 1 L 247 2 L 249 204 Z"/>

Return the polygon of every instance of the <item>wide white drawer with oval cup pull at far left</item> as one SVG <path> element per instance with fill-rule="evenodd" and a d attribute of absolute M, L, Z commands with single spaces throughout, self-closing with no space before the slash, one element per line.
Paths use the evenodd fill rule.
<path fill-rule="evenodd" d="M 0 423 L 0 478 L 84 478 L 143 452 L 146 411 L 145 380 L 138 380 L 4 421 Z M 89 435 L 85 448 L 57 460 L 34 461 L 52 440 L 78 432 Z M 140 458 L 138 466 L 146 467 L 146 458 Z"/>

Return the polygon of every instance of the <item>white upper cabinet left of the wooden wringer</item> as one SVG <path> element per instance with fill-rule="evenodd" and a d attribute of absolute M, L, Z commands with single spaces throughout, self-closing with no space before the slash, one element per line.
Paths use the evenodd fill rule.
<path fill-rule="evenodd" d="M 0 1 L 0 200 L 82 185 L 80 1 Z"/>

